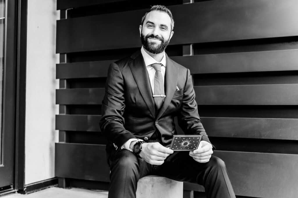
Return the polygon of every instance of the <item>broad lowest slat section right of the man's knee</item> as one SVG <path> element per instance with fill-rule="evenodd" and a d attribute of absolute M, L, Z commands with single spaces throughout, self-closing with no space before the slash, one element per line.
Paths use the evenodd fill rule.
<path fill-rule="evenodd" d="M 215 151 L 225 161 L 236 195 L 264 198 L 297 196 L 298 155 Z"/>

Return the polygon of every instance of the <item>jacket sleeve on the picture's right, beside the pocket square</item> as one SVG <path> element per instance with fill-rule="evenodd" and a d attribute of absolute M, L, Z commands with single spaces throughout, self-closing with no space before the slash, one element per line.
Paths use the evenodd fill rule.
<path fill-rule="evenodd" d="M 198 105 L 195 101 L 195 91 L 189 69 L 187 69 L 181 111 L 177 118 L 178 124 L 185 134 L 203 135 L 202 140 L 211 144 L 198 114 Z"/>

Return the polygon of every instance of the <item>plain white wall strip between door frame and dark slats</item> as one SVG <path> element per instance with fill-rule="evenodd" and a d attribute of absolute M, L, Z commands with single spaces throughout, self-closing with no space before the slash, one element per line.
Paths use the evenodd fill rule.
<path fill-rule="evenodd" d="M 56 0 L 28 1 L 25 184 L 55 175 Z"/>

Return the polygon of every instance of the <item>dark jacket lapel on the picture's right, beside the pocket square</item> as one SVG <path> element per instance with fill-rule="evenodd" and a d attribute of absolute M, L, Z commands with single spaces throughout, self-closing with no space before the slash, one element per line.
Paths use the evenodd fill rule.
<path fill-rule="evenodd" d="M 165 73 L 165 99 L 164 103 L 162 104 L 162 107 L 160 107 L 159 112 L 157 114 L 157 119 L 162 116 L 164 111 L 169 106 L 173 95 L 176 91 L 176 86 L 178 82 L 178 67 L 176 64 L 173 63 L 173 61 L 167 56 L 166 54 L 166 73 Z"/>

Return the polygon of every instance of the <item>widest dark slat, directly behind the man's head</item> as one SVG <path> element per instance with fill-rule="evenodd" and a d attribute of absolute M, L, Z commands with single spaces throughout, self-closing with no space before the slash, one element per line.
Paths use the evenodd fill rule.
<path fill-rule="evenodd" d="M 175 19 L 170 45 L 296 36 L 298 18 L 293 16 L 298 15 L 297 6 L 296 0 L 221 0 L 169 6 Z M 56 52 L 139 47 L 138 27 L 146 11 L 58 20 Z"/>

